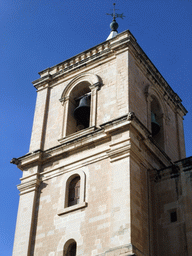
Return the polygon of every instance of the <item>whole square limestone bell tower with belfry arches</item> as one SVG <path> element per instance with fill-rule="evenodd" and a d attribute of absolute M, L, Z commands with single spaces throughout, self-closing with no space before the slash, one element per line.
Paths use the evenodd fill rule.
<path fill-rule="evenodd" d="M 130 31 L 39 74 L 13 255 L 190 255 L 186 110 Z"/>

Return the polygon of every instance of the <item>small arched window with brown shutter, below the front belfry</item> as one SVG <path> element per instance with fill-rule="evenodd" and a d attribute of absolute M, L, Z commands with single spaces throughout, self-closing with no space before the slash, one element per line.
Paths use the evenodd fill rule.
<path fill-rule="evenodd" d="M 78 204 L 80 202 L 80 177 L 72 179 L 68 187 L 68 206 Z"/>

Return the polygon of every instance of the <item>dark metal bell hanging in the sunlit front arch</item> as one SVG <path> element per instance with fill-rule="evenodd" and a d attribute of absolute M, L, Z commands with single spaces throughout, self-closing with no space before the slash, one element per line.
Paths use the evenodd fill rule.
<path fill-rule="evenodd" d="M 79 101 L 79 106 L 74 110 L 75 119 L 79 121 L 84 128 L 89 127 L 90 117 L 90 96 L 85 95 Z"/>

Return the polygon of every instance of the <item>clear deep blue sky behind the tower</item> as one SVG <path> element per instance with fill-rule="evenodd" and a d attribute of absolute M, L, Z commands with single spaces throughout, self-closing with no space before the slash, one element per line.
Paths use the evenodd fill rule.
<path fill-rule="evenodd" d="M 22 172 L 29 150 L 38 72 L 106 40 L 111 0 L 0 0 L 0 255 L 12 255 Z M 192 0 L 116 0 L 127 29 L 183 100 L 186 156 L 192 156 Z"/>

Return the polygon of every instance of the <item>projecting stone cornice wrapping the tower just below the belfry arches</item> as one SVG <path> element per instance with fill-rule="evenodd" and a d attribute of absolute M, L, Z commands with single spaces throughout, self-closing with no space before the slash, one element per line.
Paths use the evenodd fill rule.
<path fill-rule="evenodd" d="M 139 134 L 141 143 L 154 155 L 162 166 L 170 165 L 171 161 L 164 151 L 158 148 L 150 138 L 151 134 L 148 129 L 139 121 L 134 113 L 130 112 L 120 118 L 111 120 L 102 124 L 99 128 L 89 127 L 78 133 L 74 133 L 60 140 L 60 145 L 50 148 L 45 151 L 36 150 L 28 153 L 25 156 L 14 159 L 12 163 L 17 164 L 18 168 L 24 171 L 30 166 L 42 165 L 45 162 L 54 161 L 59 158 L 66 158 L 73 155 L 74 152 L 83 151 L 89 146 L 104 144 L 111 141 L 113 134 L 121 133 L 122 131 L 135 130 Z M 118 144 L 118 145 L 117 145 Z M 110 161 L 116 161 L 130 154 L 130 150 L 134 149 L 132 139 L 126 138 L 126 142 L 120 141 L 114 144 L 108 144 L 106 154 Z M 107 144 L 106 144 L 107 145 Z M 136 150 L 138 151 L 138 150 Z"/>

